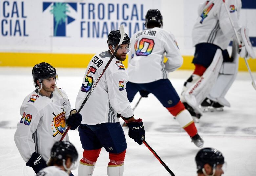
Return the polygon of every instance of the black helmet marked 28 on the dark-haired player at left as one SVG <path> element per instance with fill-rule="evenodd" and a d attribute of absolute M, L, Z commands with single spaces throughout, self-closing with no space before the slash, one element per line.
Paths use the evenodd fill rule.
<path fill-rule="evenodd" d="M 32 70 L 34 80 L 56 76 L 56 69 L 46 62 L 36 64 Z"/>

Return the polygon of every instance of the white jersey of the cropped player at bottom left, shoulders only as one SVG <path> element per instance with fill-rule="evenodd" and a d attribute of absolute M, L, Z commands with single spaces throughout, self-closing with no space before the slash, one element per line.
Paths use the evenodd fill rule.
<path fill-rule="evenodd" d="M 40 170 L 35 176 L 69 176 L 69 174 L 57 166 L 49 166 Z"/>

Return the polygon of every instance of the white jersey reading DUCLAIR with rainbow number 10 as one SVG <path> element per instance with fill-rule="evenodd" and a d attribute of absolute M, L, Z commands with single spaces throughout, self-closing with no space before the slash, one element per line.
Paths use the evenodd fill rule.
<path fill-rule="evenodd" d="M 128 75 L 129 82 L 149 83 L 167 79 L 168 72 L 183 63 L 174 35 L 155 27 L 136 32 L 131 37 Z M 164 54 L 168 58 L 164 63 Z"/>

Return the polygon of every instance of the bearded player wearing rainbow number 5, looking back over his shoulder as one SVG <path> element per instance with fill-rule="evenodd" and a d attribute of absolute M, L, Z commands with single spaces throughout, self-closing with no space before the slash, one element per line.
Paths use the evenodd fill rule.
<path fill-rule="evenodd" d="M 91 59 L 82 86 L 76 98 L 75 107 L 79 108 L 101 74 L 120 41 L 120 31 L 108 34 L 108 51 L 96 54 Z M 90 98 L 81 110 L 83 120 L 78 127 L 80 140 L 84 149 L 83 158 L 78 166 L 78 176 L 92 175 L 101 148 L 109 153 L 108 176 L 122 176 L 124 157 L 127 148 L 123 129 L 118 114 L 129 127 L 129 137 L 142 144 L 145 130 L 141 119 L 135 120 L 127 99 L 126 82 L 128 75 L 121 61 L 130 50 L 130 38 L 125 34 L 117 54 L 102 75 Z"/>

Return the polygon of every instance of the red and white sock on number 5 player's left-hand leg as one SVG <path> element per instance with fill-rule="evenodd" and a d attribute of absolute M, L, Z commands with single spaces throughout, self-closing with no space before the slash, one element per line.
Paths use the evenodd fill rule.
<path fill-rule="evenodd" d="M 84 150 L 83 158 L 78 165 L 78 176 L 91 176 L 93 174 L 100 150 L 101 148 L 96 150 Z"/>

